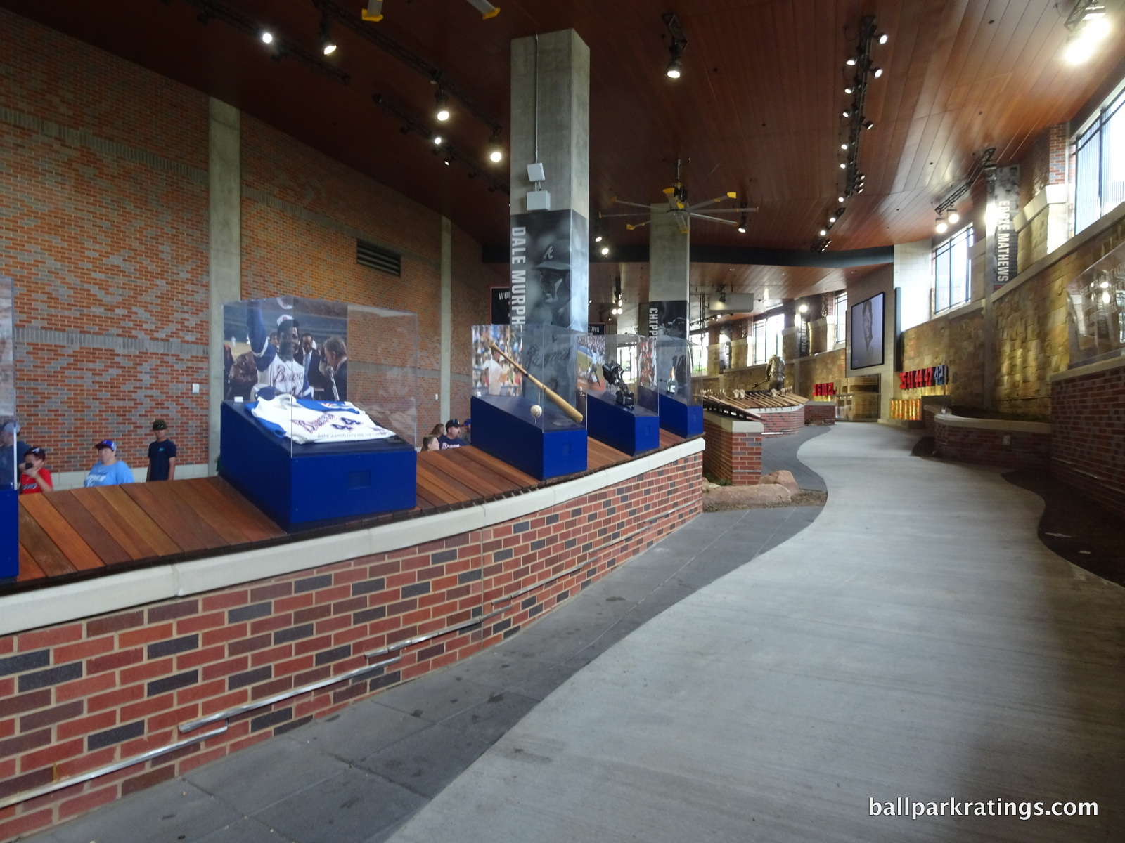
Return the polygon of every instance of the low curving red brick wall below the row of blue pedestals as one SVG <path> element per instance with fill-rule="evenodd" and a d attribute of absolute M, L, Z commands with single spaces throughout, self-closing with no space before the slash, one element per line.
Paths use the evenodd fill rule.
<path fill-rule="evenodd" d="M 202 745 L 4 808 L 0 840 L 171 779 L 515 634 L 698 515 L 700 469 L 693 454 L 483 531 L 0 637 L 3 797 L 164 746 L 194 718 L 363 667 L 363 653 L 487 615 L 493 600 L 591 560 L 483 626 L 407 647 L 374 678 L 253 710 Z"/>

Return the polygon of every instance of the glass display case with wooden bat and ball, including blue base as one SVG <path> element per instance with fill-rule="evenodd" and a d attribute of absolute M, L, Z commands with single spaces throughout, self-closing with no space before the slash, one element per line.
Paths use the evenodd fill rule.
<path fill-rule="evenodd" d="M 538 480 L 585 471 L 578 348 L 586 339 L 552 325 L 472 326 L 474 446 Z"/>

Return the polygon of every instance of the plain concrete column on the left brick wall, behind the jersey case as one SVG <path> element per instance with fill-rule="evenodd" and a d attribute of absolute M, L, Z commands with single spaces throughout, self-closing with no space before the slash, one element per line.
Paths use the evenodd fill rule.
<path fill-rule="evenodd" d="M 214 473 L 223 402 L 223 305 L 242 298 L 242 138 L 238 109 L 212 99 L 208 110 L 207 471 Z"/>

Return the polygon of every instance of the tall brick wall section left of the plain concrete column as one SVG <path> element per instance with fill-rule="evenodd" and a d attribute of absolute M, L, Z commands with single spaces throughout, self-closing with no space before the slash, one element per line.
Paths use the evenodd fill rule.
<path fill-rule="evenodd" d="M 0 10 L 0 274 L 16 282 L 17 328 L 205 348 L 207 98 Z M 206 384 L 206 356 L 90 344 L 17 343 L 21 438 L 56 470 L 89 468 L 104 437 L 143 465 L 163 416 L 180 460 L 204 461 L 191 383 Z"/>

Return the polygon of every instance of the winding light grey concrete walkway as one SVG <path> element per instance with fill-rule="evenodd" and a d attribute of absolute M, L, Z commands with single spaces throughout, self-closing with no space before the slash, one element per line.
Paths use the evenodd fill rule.
<path fill-rule="evenodd" d="M 1125 839 L 1125 590 L 1040 544 L 1038 498 L 916 439 L 808 442 L 811 527 L 575 673 L 392 840 Z M 870 815 L 903 797 L 1098 816 Z"/>

